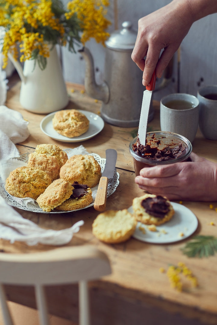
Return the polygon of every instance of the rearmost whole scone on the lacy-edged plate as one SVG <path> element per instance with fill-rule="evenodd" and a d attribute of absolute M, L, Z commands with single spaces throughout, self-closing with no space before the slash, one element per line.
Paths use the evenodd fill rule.
<path fill-rule="evenodd" d="M 67 160 L 67 153 L 59 146 L 40 144 L 30 153 L 28 165 L 44 170 L 53 181 L 60 177 L 60 168 Z"/>

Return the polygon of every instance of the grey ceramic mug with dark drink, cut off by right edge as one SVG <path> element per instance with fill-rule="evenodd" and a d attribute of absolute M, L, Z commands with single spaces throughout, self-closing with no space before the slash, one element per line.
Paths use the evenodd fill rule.
<path fill-rule="evenodd" d="M 203 136 L 217 140 L 217 85 L 202 87 L 197 92 L 199 99 L 199 128 Z"/>

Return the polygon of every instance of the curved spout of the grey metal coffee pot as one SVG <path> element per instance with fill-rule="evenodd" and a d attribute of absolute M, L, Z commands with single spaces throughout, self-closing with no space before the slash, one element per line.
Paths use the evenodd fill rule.
<path fill-rule="evenodd" d="M 83 47 L 79 50 L 79 53 L 83 56 L 86 63 L 85 81 L 84 86 L 87 94 L 95 99 L 102 100 L 103 103 L 109 101 L 109 86 L 103 82 L 102 85 L 97 85 L 94 74 L 94 62 L 93 57 L 87 47 Z"/>

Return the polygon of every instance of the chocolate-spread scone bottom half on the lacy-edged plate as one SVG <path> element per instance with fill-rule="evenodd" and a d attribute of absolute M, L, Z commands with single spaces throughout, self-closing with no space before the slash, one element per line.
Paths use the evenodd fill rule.
<path fill-rule="evenodd" d="M 83 209 L 92 203 L 92 191 L 86 184 L 78 184 L 78 182 L 75 182 L 73 188 L 73 193 L 70 198 L 61 205 L 58 205 L 55 210 L 71 211 Z"/>

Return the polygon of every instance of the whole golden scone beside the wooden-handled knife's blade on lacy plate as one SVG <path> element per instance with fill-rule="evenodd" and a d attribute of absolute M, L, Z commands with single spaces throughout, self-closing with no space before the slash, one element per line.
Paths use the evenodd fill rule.
<path fill-rule="evenodd" d="M 101 167 L 91 155 L 74 155 L 61 167 L 60 178 L 94 187 L 100 181 Z"/>

